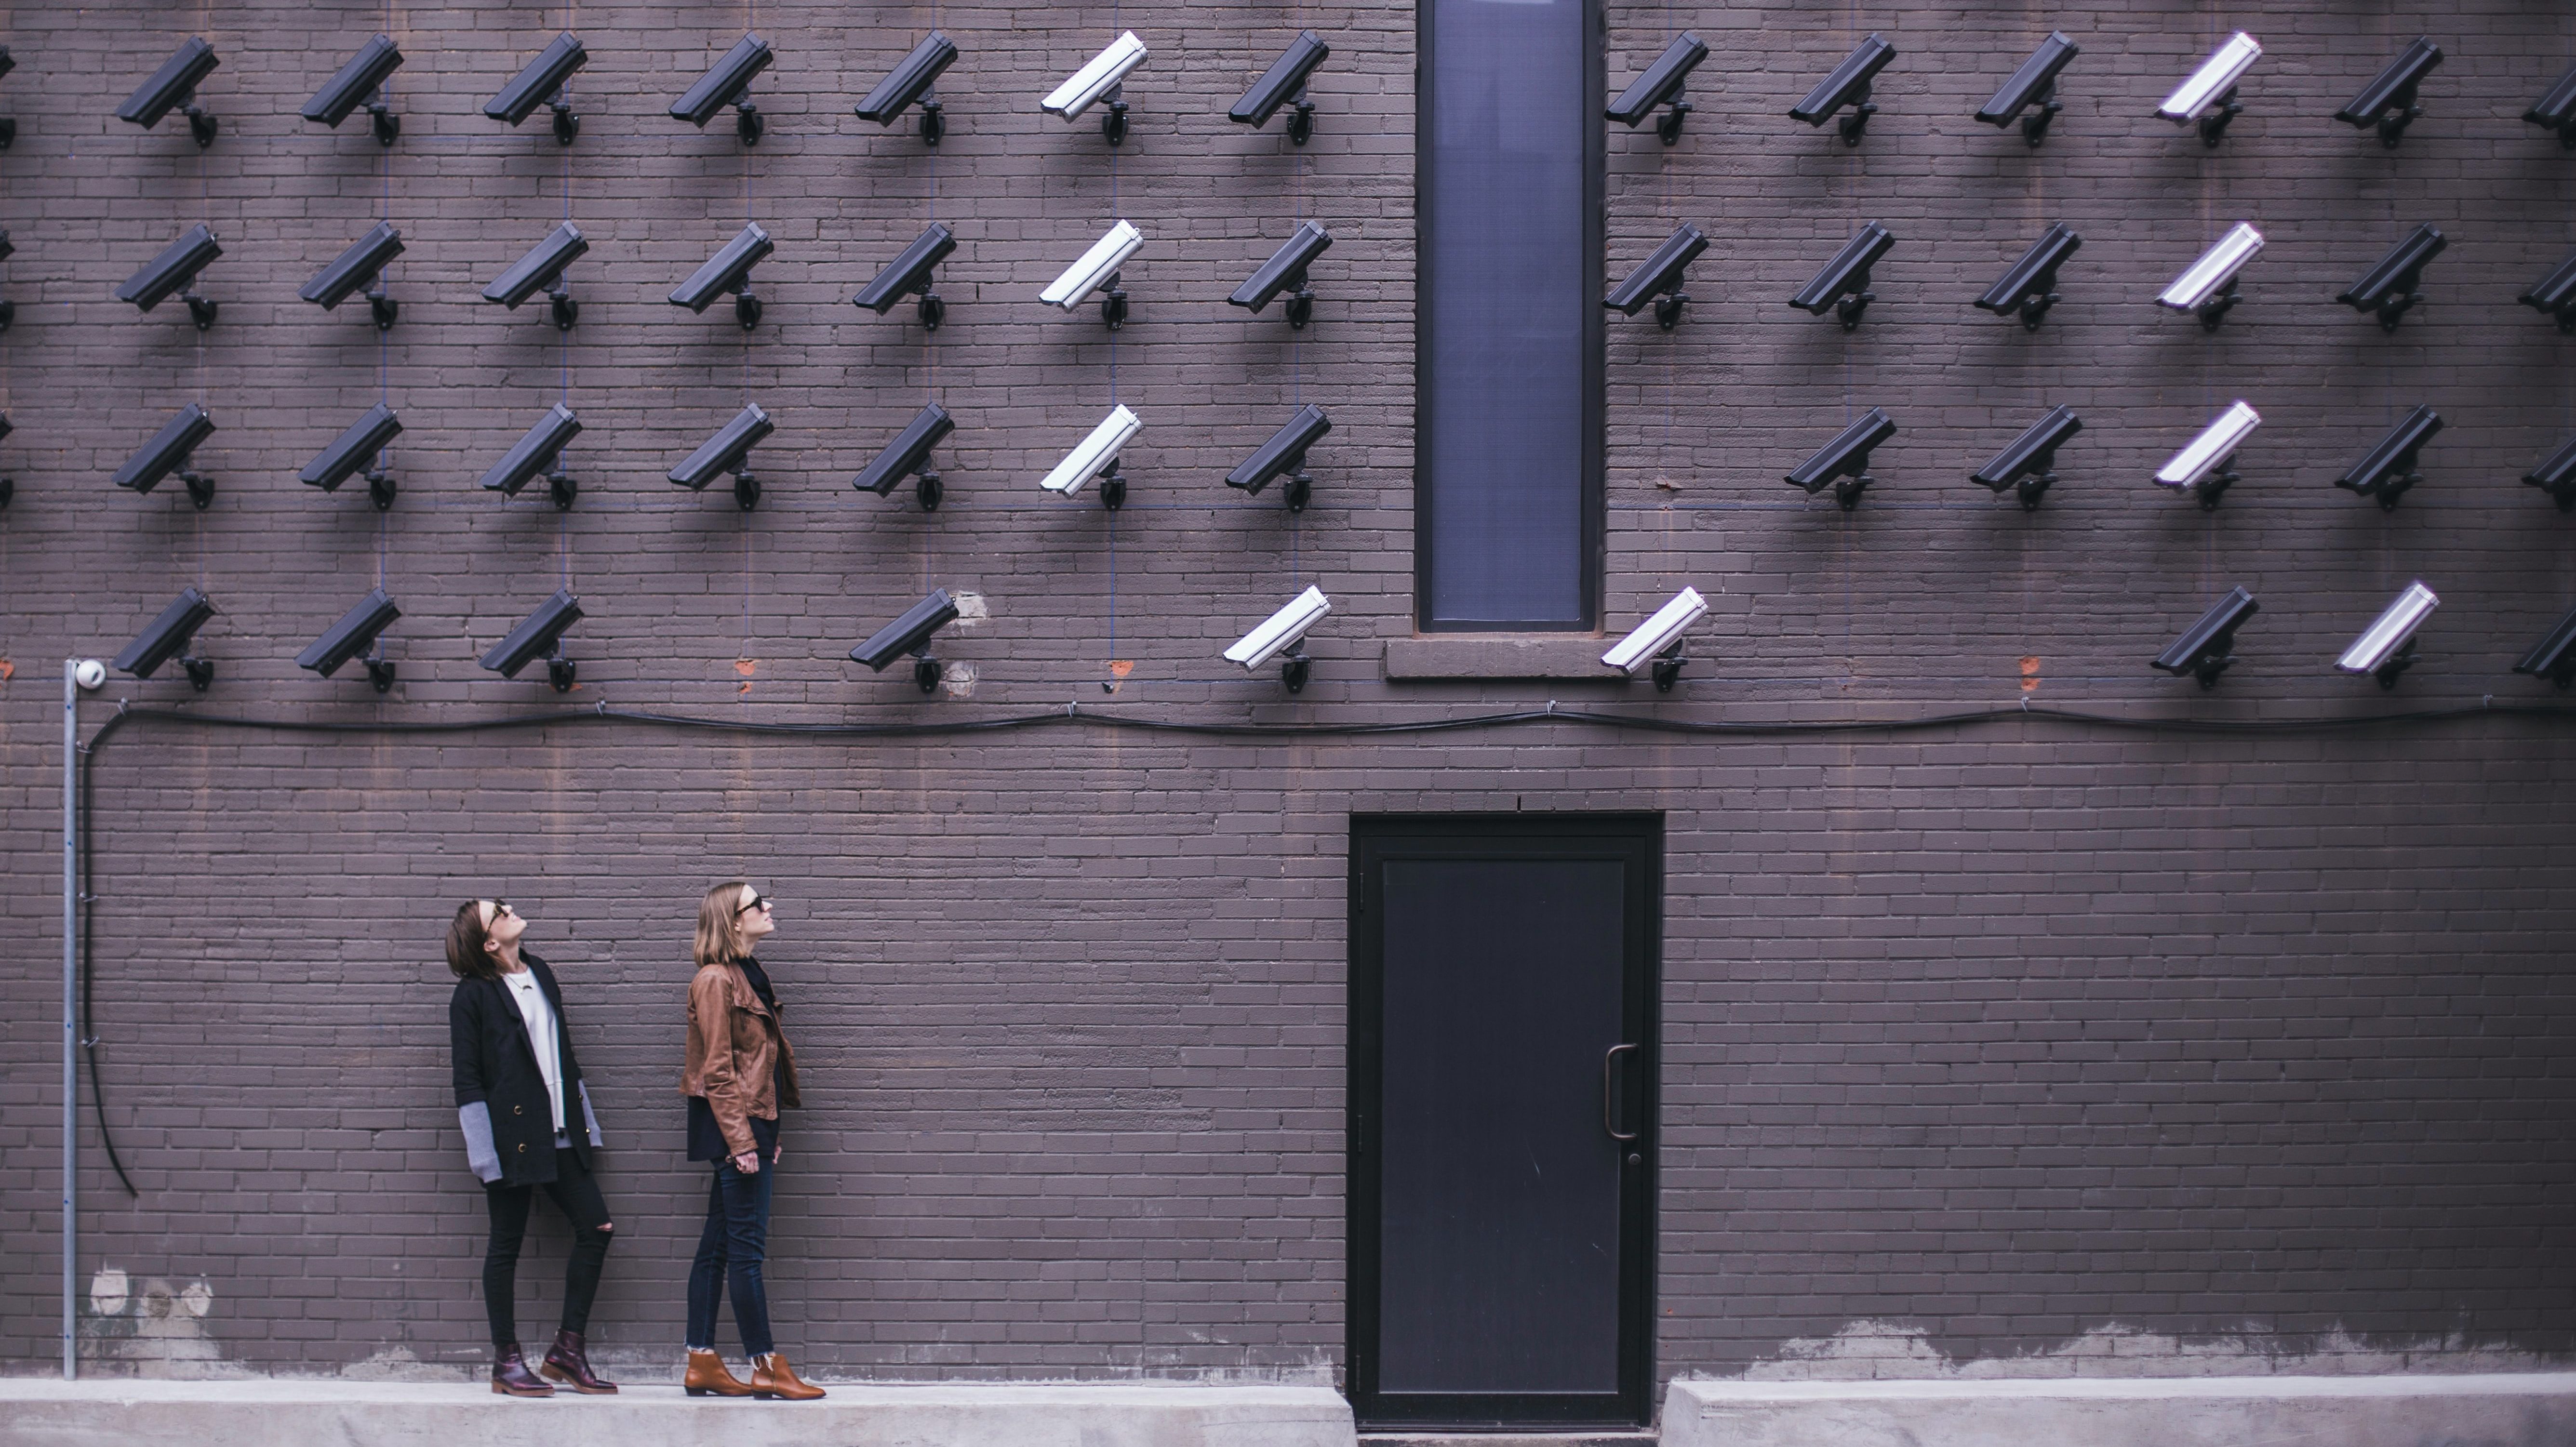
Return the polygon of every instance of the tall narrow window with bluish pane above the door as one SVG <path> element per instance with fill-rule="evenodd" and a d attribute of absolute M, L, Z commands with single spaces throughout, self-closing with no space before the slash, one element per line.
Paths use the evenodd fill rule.
<path fill-rule="evenodd" d="M 1414 597 L 1592 628 L 1602 533 L 1597 0 L 1422 0 Z"/>

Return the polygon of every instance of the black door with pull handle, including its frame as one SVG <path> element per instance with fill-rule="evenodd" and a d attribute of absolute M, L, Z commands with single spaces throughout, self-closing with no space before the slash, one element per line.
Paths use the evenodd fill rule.
<path fill-rule="evenodd" d="M 1352 819 L 1350 1401 L 1654 1408 L 1662 819 Z"/>

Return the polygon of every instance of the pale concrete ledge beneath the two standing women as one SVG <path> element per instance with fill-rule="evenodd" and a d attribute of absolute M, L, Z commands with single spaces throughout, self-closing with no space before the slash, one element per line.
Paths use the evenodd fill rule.
<path fill-rule="evenodd" d="M 829 1385 L 824 1401 L 677 1385 L 513 1401 L 477 1385 L 0 1380 L 0 1447 L 1352 1447 L 1332 1388 L 1188 1383 Z"/>

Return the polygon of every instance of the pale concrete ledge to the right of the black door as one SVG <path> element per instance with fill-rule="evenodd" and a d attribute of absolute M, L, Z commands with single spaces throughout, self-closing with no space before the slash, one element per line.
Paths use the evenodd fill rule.
<path fill-rule="evenodd" d="M 2566 1447 L 2576 1372 L 1672 1383 L 1664 1447 Z"/>

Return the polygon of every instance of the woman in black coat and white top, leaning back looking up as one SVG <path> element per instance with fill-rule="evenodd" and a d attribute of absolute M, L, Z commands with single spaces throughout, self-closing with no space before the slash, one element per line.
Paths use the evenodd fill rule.
<path fill-rule="evenodd" d="M 544 1190 L 572 1223 L 572 1264 L 564 1267 L 564 1326 L 546 1352 L 544 1375 L 577 1393 L 613 1393 L 590 1370 L 582 1334 L 590 1298 L 608 1259 L 608 1202 L 590 1174 L 600 1146 L 600 1120 L 590 1112 L 582 1066 L 564 1027 L 564 991 L 546 960 L 520 950 L 528 922 L 497 899 L 456 909 L 448 924 L 448 1038 L 456 1058 L 456 1123 L 466 1133 L 466 1164 L 484 1182 L 492 1241 L 484 1246 L 484 1311 L 492 1316 L 492 1390 L 502 1396 L 554 1396 L 528 1372 L 518 1349 L 513 1295 L 518 1246 L 528 1233 L 528 1205 Z"/>

